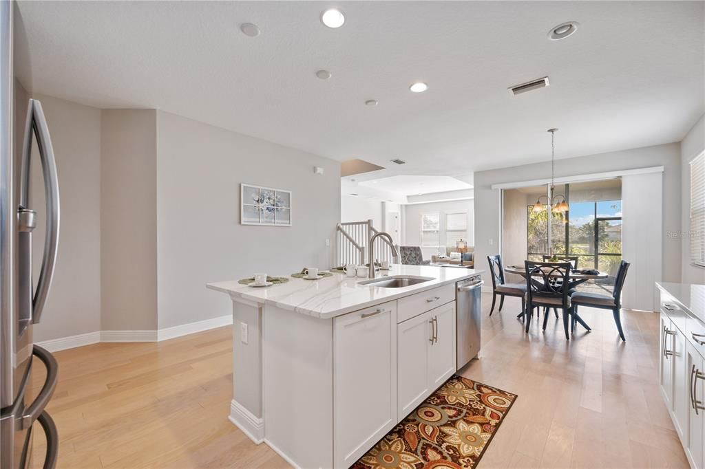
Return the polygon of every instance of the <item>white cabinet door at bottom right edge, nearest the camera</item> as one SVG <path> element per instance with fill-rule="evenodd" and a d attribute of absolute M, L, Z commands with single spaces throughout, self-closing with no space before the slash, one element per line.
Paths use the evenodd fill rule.
<path fill-rule="evenodd" d="M 683 440 L 685 444 L 688 459 L 695 469 L 705 467 L 705 409 L 696 409 L 698 405 L 694 401 L 705 402 L 705 380 L 697 379 L 695 373 L 705 373 L 705 361 L 700 356 L 695 347 L 687 342 L 686 360 L 685 360 L 687 378 L 686 384 L 689 384 L 688 390 L 688 422 L 687 434 Z"/>

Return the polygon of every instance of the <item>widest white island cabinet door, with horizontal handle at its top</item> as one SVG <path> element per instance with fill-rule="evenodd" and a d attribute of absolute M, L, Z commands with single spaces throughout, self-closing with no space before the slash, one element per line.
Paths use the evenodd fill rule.
<path fill-rule="evenodd" d="M 333 322 L 333 460 L 352 465 L 396 425 L 396 301 Z"/>

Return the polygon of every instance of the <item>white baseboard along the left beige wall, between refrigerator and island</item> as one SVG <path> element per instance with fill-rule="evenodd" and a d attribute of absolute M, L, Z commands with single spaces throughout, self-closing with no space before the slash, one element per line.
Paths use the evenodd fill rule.
<path fill-rule="evenodd" d="M 228 314 L 218 318 L 196 321 L 195 323 L 182 324 L 173 327 L 166 327 L 160 330 L 97 330 L 86 334 L 60 337 L 59 339 L 44 340 L 37 342 L 37 345 L 44 347 L 50 352 L 74 349 L 98 342 L 161 342 L 162 340 L 174 339 L 183 335 L 203 332 L 204 330 L 215 329 L 233 323 L 233 316 Z"/>

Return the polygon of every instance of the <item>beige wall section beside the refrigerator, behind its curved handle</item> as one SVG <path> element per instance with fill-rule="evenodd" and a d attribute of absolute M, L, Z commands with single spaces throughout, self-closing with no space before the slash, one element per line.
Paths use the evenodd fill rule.
<path fill-rule="evenodd" d="M 16 85 L 17 86 L 17 85 Z M 100 330 L 100 110 L 41 94 L 59 177 L 61 225 L 54 280 L 42 322 L 34 329 L 42 341 Z M 26 106 L 20 89 L 18 106 Z M 21 102 L 20 102 L 21 101 Z M 24 120 L 26 111 L 21 115 Z M 24 123 L 21 123 L 24 129 Z M 20 132 L 23 134 L 24 130 Z M 34 271 L 44 249 L 46 205 L 39 154 L 32 152 L 30 206 L 38 212 L 33 232 Z M 35 282 L 36 282 L 35 277 Z"/>

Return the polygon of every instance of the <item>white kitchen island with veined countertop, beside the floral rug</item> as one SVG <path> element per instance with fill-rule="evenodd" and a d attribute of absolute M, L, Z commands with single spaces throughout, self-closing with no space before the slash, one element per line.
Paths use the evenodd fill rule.
<path fill-rule="evenodd" d="M 344 275 L 208 284 L 233 303 L 231 421 L 294 466 L 355 463 L 455 373 L 456 282 L 479 273 L 394 265 L 384 280 L 418 282 L 396 288 Z"/>

